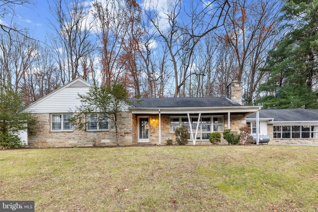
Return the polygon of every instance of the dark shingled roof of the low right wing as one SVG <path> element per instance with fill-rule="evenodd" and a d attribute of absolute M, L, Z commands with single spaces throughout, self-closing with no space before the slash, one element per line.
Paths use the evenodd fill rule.
<path fill-rule="evenodd" d="M 256 119 L 256 114 L 246 118 Z M 259 111 L 259 119 L 272 122 L 313 122 L 318 121 L 318 109 L 265 109 Z"/>

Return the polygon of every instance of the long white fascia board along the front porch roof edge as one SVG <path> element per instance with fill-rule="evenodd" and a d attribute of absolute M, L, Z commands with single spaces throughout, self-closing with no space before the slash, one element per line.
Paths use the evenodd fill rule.
<path fill-rule="evenodd" d="M 185 114 L 185 113 L 254 113 L 260 110 L 259 106 L 235 107 L 184 107 L 184 108 L 135 108 L 129 110 L 133 114 Z"/>

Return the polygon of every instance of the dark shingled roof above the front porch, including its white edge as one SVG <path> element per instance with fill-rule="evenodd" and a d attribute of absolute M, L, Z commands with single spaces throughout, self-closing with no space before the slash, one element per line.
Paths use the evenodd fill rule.
<path fill-rule="evenodd" d="M 130 99 L 133 113 L 227 113 L 248 114 L 260 106 L 242 106 L 226 97 L 178 97 Z"/>

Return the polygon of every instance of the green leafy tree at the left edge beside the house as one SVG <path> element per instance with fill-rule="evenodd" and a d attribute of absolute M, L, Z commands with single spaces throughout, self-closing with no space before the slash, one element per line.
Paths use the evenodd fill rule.
<path fill-rule="evenodd" d="M 24 109 L 22 93 L 0 87 L 0 148 L 22 146 L 18 137 L 35 119 Z"/>

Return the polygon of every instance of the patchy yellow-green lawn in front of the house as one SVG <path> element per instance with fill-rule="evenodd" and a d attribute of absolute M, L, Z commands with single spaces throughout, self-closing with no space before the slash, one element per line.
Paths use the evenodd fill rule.
<path fill-rule="evenodd" d="M 35 211 L 318 210 L 316 146 L 0 151 L 0 200 Z"/>

